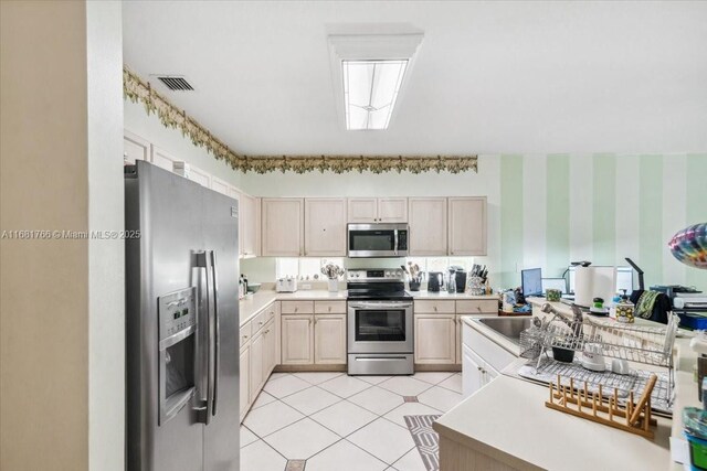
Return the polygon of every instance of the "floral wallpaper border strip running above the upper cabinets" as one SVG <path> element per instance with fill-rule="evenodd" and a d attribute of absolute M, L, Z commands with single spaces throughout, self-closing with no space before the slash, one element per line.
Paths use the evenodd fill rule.
<path fill-rule="evenodd" d="M 194 146 L 205 148 L 217 160 L 225 160 L 233 170 L 242 172 L 305 173 L 313 171 L 344 172 L 442 172 L 478 171 L 476 156 L 244 156 L 234 152 L 211 135 L 207 128 L 157 93 L 126 66 L 123 67 L 123 94 L 133 103 L 145 105 L 147 114 L 157 113 L 162 125 L 181 130 Z"/>

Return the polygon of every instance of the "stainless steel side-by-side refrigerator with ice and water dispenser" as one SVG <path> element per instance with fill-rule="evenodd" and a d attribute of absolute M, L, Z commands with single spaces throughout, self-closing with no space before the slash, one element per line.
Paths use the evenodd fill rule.
<path fill-rule="evenodd" d="M 238 221 L 231 197 L 125 168 L 129 471 L 240 468 Z"/>

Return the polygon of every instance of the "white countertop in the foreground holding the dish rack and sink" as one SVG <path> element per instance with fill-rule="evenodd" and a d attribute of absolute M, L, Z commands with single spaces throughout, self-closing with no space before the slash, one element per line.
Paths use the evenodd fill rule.
<path fill-rule="evenodd" d="M 536 306 L 547 302 L 538 299 Z M 552 303 L 562 313 L 569 306 Z M 559 306 L 558 306 L 559 304 Z M 465 324 L 482 332 L 505 350 L 518 355 L 518 345 L 503 335 L 462 318 Z M 615 322 L 608 318 L 592 321 Z M 636 324 L 654 322 L 636 319 Z M 686 405 L 698 405 L 696 383 L 692 378 L 695 354 L 689 339 L 677 339 L 676 400 L 679 417 Z M 502 374 L 457 407 L 442 416 L 435 430 L 445 438 L 478 450 L 517 469 L 549 470 L 666 470 L 682 469 L 671 458 L 669 437 L 682 436 L 682 420 L 656 417 L 655 439 L 613 429 L 600 424 L 562 414 L 545 406 L 548 388 L 514 376 L 510 370 L 525 360 L 514 362 Z M 515 371 L 515 370 L 514 370 Z"/>

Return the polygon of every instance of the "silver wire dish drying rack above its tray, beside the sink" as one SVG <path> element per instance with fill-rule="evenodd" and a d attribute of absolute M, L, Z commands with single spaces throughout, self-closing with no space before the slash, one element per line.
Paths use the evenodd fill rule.
<path fill-rule="evenodd" d="M 664 367 L 667 370 L 665 398 L 672 403 L 675 385 L 673 345 L 679 318 L 671 313 L 667 325 L 646 327 L 635 324 L 602 324 L 587 319 L 582 311 L 572 306 L 573 319 L 567 319 L 550 304 L 542 312 L 555 314 L 549 321 L 539 322 L 520 333 L 520 356 L 537 360 L 536 371 L 548 350 L 552 347 L 583 352 L 590 344 L 599 345 L 604 357 Z M 545 353 L 545 355 L 542 355 Z"/>

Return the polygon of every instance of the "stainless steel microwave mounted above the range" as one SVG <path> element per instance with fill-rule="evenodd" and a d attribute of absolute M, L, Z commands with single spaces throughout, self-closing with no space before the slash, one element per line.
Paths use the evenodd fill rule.
<path fill-rule="evenodd" d="M 408 224 L 349 224 L 349 257 L 407 257 Z"/>

